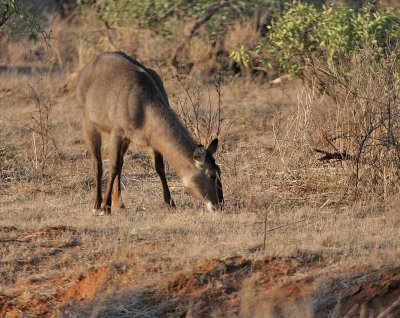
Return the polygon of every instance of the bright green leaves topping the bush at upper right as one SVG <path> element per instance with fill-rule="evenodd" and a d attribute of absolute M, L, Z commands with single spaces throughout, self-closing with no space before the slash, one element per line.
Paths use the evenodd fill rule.
<path fill-rule="evenodd" d="M 366 44 L 375 47 L 379 58 L 399 39 L 400 18 L 392 11 L 371 5 L 356 11 L 348 6 L 317 7 L 294 1 L 272 21 L 270 31 L 253 51 L 231 57 L 246 66 L 240 56 L 247 54 L 253 56 L 253 65 L 300 74 L 316 60 L 332 66 Z"/>

